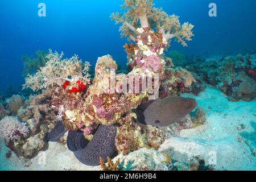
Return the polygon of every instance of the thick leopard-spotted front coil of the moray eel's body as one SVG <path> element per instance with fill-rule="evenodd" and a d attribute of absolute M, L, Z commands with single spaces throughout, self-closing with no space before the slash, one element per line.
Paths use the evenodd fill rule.
<path fill-rule="evenodd" d="M 100 157 L 106 162 L 107 158 L 113 156 L 115 147 L 115 136 L 117 128 L 114 125 L 100 125 L 94 137 L 87 146 L 79 151 L 75 151 L 76 158 L 87 166 L 100 165 Z"/>

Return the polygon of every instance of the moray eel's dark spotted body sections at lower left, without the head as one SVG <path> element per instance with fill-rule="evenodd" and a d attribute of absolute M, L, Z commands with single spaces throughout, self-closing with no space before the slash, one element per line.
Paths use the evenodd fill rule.
<path fill-rule="evenodd" d="M 47 140 L 57 142 L 66 131 L 63 123 L 58 121 L 55 128 L 48 134 Z M 68 131 L 67 146 L 81 163 L 88 166 L 98 166 L 100 165 L 100 157 L 106 162 L 108 157 L 114 158 L 117 155 L 116 135 L 117 128 L 114 125 L 100 125 L 90 141 L 85 139 L 82 131 Z"/>

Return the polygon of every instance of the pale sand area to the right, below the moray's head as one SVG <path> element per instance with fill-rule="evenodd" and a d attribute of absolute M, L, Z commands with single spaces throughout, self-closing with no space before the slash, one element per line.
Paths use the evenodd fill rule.
<path fill-rule="evenodd" d="M 220 170 L 256 170 L 256 157 L 250 150 L 255 150 L 256 144 L 256 131 L 251 125 L 256 121 L 256 101 L 229 102 L 220 90 L 210 86 L 198 97 L 183 96 L 196 98 L 199 106 L 207 110 L 207 123 L 182 130 L 179 138 L 166 140 L 160 150 L 182 162 L 188 162 L 191 155 L 201 155 Z M 238 130 L 241 124 L 245 129 Z M 252 140 L 246 140 L 241 133 L 248 133 Z"/>

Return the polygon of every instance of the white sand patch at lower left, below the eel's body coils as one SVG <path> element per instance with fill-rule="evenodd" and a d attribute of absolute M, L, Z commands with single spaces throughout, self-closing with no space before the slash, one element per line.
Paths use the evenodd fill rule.
<path fill-rule="evenodd" d="M 75 171 L 95 171 L 100 170 L 100 167 L 85 166 L 80 163 L 73 152 L 69 151 L 67 146 L 56 142 L 49 142 L 49 148 L 46 152 L 39 153 L 32 160 L 18 158 L 14 152 L 11 158 L 6 159 L 5 154 L 7 148 L 3 141 L 0 142 L 0 170 L 75 170 Z"/>

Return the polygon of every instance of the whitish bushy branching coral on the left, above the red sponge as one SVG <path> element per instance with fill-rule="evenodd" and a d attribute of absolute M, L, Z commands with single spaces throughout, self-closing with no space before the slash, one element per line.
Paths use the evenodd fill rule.
<path fill-rule="evenodd" d="M 49 50 L 46 58 L 49 60 L 46 65 L 40 68 L 35 75 L 28 75 L 23 88 L 31 88 L 32 90 L 46 89 L 49 86 L 63 85 L 65 81 L 71 82 L 71 89 L 77 85 L 78 81 L 83 84 L 89 83 L 89 63 L 79 60 L 77 55 L 70 59 L 63 59 L 64 54 Z"/>

